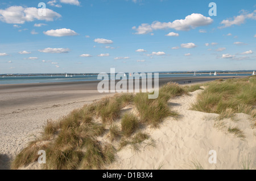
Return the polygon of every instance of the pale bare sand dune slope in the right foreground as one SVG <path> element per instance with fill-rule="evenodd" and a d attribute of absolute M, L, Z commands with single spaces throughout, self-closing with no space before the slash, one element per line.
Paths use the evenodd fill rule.
<path fill-rule="evenodd" d="M 200 163 L 204 169 L 242 169 L 247 158 L 255 169 L 256 129 L 251 128 L 250 116 L 239 113 L 240 121 L 226 120 L 226 124 L 238 125 L 245 132 L 245 140 L 215 128 L 217 114 L 189 110 L 201 91 L 171 99 L 170 106 L 181 118 L 167 118 L 160 129 L 146 129 L 155 140 L 155 147 L 142 147 L 139 152 L 123 149 L 109 169 L 195 169 L 192 162 Z M 208 161 L 210 150 L 217 152 L 216 164 Z"/>

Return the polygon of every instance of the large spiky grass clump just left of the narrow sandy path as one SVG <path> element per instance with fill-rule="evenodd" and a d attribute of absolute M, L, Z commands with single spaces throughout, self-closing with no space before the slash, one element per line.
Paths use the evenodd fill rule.
<path fill-rule="evenodd" d="M 160 97 L 148 99 L 147 93 L 135 95 L 134 104 L 139 112 L 141 121 L 153 127 L 158 127 L 165 117 L 177 116 L 177 113 L 171 111 L 168 107 L 166 99 Z"/>

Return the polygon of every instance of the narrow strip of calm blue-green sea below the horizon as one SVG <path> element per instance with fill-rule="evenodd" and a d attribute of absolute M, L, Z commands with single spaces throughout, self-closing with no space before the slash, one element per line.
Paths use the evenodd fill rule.
<path fill-rule="evenodd" d="M 217 76 L 242 76 L 251 74 L 218 74 Z M 126 74 L 130 77 L 129 74 Z M 191 77 L 193 74 L 159 74 L 162 77 Z M 206 77 L 209 74 L 196 74 L 193 77 Z M 213 75 L 211 75 L 213 77 Z M 47 83 L 47 82 L 79 82 L 79 81 L 97 81 L 97 75 L 72 75 L 72 77 L 65 77 L 65 75 L 40 75 L 40 76 L 14 76 L 14 77 L 0 77 L 0 85 L 19 84 L 19 83 Z"/>

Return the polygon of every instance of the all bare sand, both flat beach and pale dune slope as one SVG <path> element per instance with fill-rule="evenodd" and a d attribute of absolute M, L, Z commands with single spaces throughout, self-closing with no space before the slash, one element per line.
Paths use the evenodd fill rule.
<path fill-rule="evenodd" d="M 229 77 L 212 79 L 218 78 Z M 189 80 L 196 83 L 210 81 L 210 78 L 162 78 L 159 85 L 170 81 L 184 83 Z M 111 95 L 98 93 L 97 83 L 0 85 L 0 169 L 9 169 L 10 160 L 25 148 L 28 142 L 39 136 L 48 119 L 57 120 L 84 104 Z M 240 126 L 246 129 L 246 141 L 213 129 L 213 120 L 204 121 L 207 113 L 189 111 L 189 105 L 195 101 L 200 91 L 170 102 L 183 115 L 181 120 L 170 119 L 165 121 L 159 130 L 147 130 L 156 140 L 156 148 L 145 149 L 138 154 L 130 150 L 120 151 L 117 162 L 110 166 L 110 169 L 154 169 L 162 162 L 163 169 L 186 169 L 184 164 L 189 164 L 189 159 L 195 158 L 205 163 L 209 149 L 218 151 L 218 161 L 225 164 L 218 166 L 205 163 L 206 169 L 238 169 L 242 155 L 255 154 L 255 129 L 249 129 L 249 118 L 243 114 L 239 116 L 245 120 L 245 124 Z M 159 150 L 162 151 L 160 158 L 157 156 Z M 234 157 L 237 159 L 230 162 L 230 158 Z"/>

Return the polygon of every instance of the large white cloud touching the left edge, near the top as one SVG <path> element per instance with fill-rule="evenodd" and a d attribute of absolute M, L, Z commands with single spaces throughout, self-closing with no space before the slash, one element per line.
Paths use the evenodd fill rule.
<path fill-rule="evenodd" d="M 45 10 L 46 16 L 39 16 L 39 9 L 35 7 L 24 8 L 22 6 L 11 6 L 5 10 L 0 10 L 0 20 L 9 24 L 24 24 L 25 22 L 32 22 L 34 20 L 53 21 L 61 17 L 61 15 L 55 11 L 49 9 Z"/>

